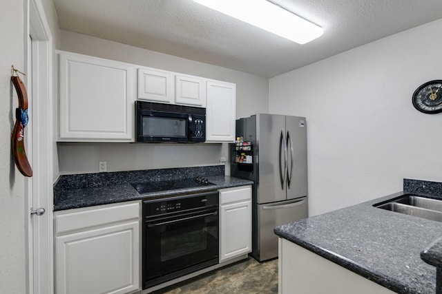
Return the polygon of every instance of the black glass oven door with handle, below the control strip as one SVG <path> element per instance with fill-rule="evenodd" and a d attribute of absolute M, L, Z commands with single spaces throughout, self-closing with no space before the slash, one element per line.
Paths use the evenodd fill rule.
<path fill-rule="evenodd" d="M 218 264 L 218 207 L 145 218 L 143 288 Z"/>

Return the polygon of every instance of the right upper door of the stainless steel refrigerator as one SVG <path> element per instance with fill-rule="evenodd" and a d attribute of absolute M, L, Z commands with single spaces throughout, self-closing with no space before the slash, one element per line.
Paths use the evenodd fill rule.
<path fill-rule="evenodd" d="M 287 140 L 287 200 L 307 196 L 307 132 L 305 118 L 285 118 Z"/>

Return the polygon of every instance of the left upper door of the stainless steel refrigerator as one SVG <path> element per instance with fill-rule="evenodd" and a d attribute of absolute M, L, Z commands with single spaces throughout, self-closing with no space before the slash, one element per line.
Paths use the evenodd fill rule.
<path fill-rule="evenodd" d="M 287 144 L 285 116 L 256 114 L 256 152 L 258 152 L 258 203 L 286 200 Z"/>

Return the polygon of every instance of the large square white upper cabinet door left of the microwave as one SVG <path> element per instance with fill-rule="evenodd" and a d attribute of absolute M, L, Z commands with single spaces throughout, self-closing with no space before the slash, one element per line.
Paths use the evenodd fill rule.
<path fill-rule="evenodd" d="M 59 54 L 59 140 L 132 141 L 135 68 Z"/>

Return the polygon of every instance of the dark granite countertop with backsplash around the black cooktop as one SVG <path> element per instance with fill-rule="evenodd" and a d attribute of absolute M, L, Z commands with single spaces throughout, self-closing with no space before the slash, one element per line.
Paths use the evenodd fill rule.
<path fill-rule="evenodd" d="M 151 182 L 204 176 L 215 185 L 138 193 L 131 182 Z M 147 200 L 229 187 L 252 185 L 251 180 L 224 176 L 224 165 L 146 171 L 79 174 L 62 176 L 54 187 L 54 211 L 102 204 Z"/>

